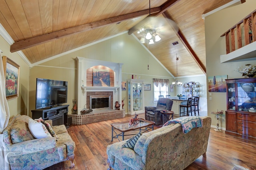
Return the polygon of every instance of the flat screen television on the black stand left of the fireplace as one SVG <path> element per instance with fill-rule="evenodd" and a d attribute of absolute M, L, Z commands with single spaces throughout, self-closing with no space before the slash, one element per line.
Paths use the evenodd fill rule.
<path fill-rule="evenodd" d="M 36 109 L 67 103 L 68 82 L 36 78 Z"/>

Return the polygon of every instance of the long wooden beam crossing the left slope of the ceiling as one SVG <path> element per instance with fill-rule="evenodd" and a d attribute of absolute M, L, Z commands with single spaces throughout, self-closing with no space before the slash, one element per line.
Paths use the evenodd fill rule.
<path fill-rule="evenodd" d="M 150 9 L 150 11 L 152 11 L 153 13 L 158 12 L 158 11 L 160 11 L 160 7 L 152 8 L 152 9 Z M 33 46 L 36 46 L 36 45 L 40 45 L 42 43 L 50 42 L 50 41 L 58 39 L 58 38 L 64 38 L 66 36 L 70 36 L 70 35 L 73 35 L 73 34 L 78 34 L 80 32 L 92 30 L 92 29 L 95 29 L 95 28 L 99 28 L 99 27 L 102 27 L 102 26 L 109 25 L 109 24 L 114 24 L 114 23 L 130 20 L 132 18 L 137 18 L 137 17 L 143 16 L 143 15 L 146 15 L 146 14 L 149 14 L 149 9 L 138 11 L 138 12 L 133 12 L 133 13 L 130 13 L 130 14 L 125 14 L 125 15 L 122 15 L 122 16 L 116 16 L 116 17 L 113 17 L 113 18 L 108 18 L 108 19 L 105 19 L 105 20 L 100 20 L 100 21 L 84 24 L 84 25 L 81 25 L 81 26 L 75 26 L 75 27 L 72 27 L 72 28 L 67 28 L 67 29 L 64 29 L 64 30 L 51 32 L 51 33 L 48 33 L 48 34 L 43 34 L 43 35 L 40 35 L 40 36 L 28 38 L 26 40 L 20 40 L 18 42 L 14 42 L 11 45 L 10 51 L 11 52 L 20 51 L 22 49 L 26 49 L 26 48 L 30 48 L 30 47 L 33 47 Z"/>

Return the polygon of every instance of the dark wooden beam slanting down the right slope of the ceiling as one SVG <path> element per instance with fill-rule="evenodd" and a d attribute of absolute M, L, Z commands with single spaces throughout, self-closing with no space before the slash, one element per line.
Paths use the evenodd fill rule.
<path fill-rule="evenodd" d="M 163 12 L 162 13 L 163 16 L 167 19 L 173 20 L 172 17 L 170 16 L 170 14 L 168 12 Z M 172 27 L 172 29 L 175 31 L 174 26 L 172 25 L 172 23 L 170 23 L 170 26 Z M 200 69 L 203 71 L 203 73 L 206 75 L 206 67 L 204 66 L 204 64 L 202 63 L 202 61 L 199 59 L 199 57 L 196 55 L 195 51 L 192 49 L 192 47 L 190 46 L 190 44 L 188 43 L 188 41 L 186 40 L 186 37 L 184 36 L 184 34 L 182 34 L 181 30 L 178 29 L 178 32 L 176 32 L 176 35 L 178 36 L 178 38 L 180 39 L 180 41 L 182 42 L 182 44 L 186 47 L 186 49 L 188 50 L 188 52 L 190 53 L 190 55 L 193 57 L 193 59 L 196 61 L 197 65 L 200 67 Z"/>

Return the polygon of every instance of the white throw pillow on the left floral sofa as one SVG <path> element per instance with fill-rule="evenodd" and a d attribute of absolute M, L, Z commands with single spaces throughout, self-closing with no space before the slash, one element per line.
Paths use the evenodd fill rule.
<path fill-rule="evenodd" d="M 33 119 L 29 119 L 28 128 L 32 135 L 37 139 L 52 137 L 52 135 L 48 132 L 48 130 L 42 123 L 34 121 Z"/>

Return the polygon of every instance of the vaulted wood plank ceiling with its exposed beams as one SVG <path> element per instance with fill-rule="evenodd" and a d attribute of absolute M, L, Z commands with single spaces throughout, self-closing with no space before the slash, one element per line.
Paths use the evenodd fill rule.
<path fill-rule="evenodd" d="M 174 76 L 176 53 L 178 76 L 201 75 L 206 73 L 202 14 L 231 1 L 150 0 L 149 10 L 149 0 L 1 0 L 0 23 L 15 42 L 10 51 L 22 50 L 33 65 L 126 31 L 140 40 L 135 28 L 150 13 L 166 23 L 162 40 L 149 50 Z M 165 18 L 176 22 L 178 32 Z"/>

